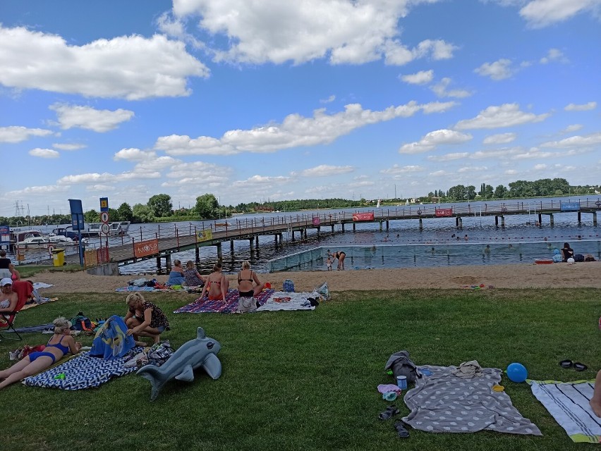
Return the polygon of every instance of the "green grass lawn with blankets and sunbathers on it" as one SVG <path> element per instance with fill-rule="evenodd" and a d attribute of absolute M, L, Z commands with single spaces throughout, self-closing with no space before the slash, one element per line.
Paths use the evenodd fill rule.
<path fill-rule="evenodd" d="M 130 374 L 100 388 L 62 391 L 15 384 L 1 393 L 0 448 L 18 450 L 571 450 L 571 443 L 526 383 L 502 384 L 542 437 L 494 432 L 435 434 L 411 430 L 396 438 L 393 420 L 380 421 L 392 383 L 390 354 L 408 350 L 420 364 L 482 366 L 523 363 L 534 379 L 593 379 L 601 314 L 599 290 L 403 290 L 336 292 L 315 311 L 245 315 L 169 314 L 194 295 L 147 295 L 168 313 L 174 347 L 202 326 L 221 343 L 221 378 L 198 371 L 172 381 L 150 402 L 150 383 Z M 58 295 L 59 302 L 23 311 L 18 326 L 47 323 L 83 311 L 125 314 L 123 294 Z M 0 342 L 8 351 L 45 342 Z M 81 339 L 90 345 L 91 337 Z M 588 364 L 576 373 L 562 359 Z M 402 400 L 401 415 L 408 414 Z M 7 421 L 8 420 L 8 421 Z"/>

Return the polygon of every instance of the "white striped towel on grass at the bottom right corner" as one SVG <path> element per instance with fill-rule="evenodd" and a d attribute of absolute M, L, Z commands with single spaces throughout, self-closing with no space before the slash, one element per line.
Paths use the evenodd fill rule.
<path fill-rule="evenodd" d="M 601 418 L 590 408 L 594 381 L 531 381 L 532 393 L 573 442 L 600 443 Z"/>

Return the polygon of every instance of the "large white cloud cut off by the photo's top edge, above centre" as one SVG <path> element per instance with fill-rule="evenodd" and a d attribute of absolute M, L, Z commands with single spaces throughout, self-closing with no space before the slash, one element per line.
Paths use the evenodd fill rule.
<path fill-rule="evenodd" d="M 245 1 L 175 0 L 174 20 L 199 17 L 202 32 L 227 44 L 213 49 L 217 61 L 305 63 L 327 58 L 332 64 L 360 64 L 384 58 L 401 65 L 415 58 L 451 58 L 456 47 L 425 39 L 414 49 L 400 40 L 399 20 L 409 7 L 436 0 Z M 174 33 L 182 31 L 175 25 Z"/>

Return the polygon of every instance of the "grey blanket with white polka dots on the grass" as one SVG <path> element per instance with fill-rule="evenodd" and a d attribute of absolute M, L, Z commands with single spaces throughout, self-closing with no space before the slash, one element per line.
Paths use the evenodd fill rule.
<path fill-rule="evenodd" d="M 542 435 L 532 421 L 521 416 L 505 392 L 494 392 L 501 370 L 482 368 L 482 376 L 454 376 L 455 366 L 420 366 L 432 371 L 415 382 L 405 395 L 411 413 L 403 418 L 413 428 L 426 432 L 497 431 Z"/>

